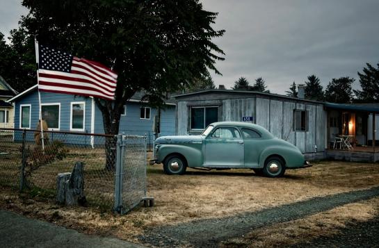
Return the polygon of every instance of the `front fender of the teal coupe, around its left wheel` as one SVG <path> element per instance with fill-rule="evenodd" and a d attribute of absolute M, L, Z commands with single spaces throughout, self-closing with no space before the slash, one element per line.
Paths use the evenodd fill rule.
<path fill-rule="evenodd" d="M 158 161 L 163 163 L 170 154 L 181 154 L 186 158 L 188 167 L 200 167 L 203 164 L 202 151 L 194 147 L 179 144 L 161 144 L 159 147 Z"/>

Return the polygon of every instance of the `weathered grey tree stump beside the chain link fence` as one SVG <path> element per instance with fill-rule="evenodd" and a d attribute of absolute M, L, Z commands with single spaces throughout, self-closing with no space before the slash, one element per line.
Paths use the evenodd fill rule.
<path fill-rule="evenodd" d="M 72 173 L 60 173 L 57 177 L 57 201 L 67 206 L 86 204 L 84 195 L 84 164 L 76 162 Z"/>

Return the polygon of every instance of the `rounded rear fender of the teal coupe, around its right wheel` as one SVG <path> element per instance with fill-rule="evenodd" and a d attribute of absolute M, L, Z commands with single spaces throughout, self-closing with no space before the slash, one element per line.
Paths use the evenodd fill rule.
<path fill-rule="evenodd" d="M 264 149 L 259 156 L 259 167 L 264 167 L 264 162 L 270 156 L 280 156 L 284 158 L 286 167 L 302 167 L 304 165 L 304 156 L 297 149 L 292 147 L 273 146 Z"/>

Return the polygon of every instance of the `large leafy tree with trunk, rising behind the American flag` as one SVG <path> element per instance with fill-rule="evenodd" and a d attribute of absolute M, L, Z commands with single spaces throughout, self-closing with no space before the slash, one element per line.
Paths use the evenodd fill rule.
<path fill-rule="evenodd" d="M 181 90 L 216 73 L 223 51 L 211 42 L 217 13 L 198 0 L 24 0 L 22 26 L 40 43 L 98 61 L 118 72 L 115 100 L 95 99 L 106 133 L 118 133 L 127 100 L 143 90 L 154 105 L 166 92 Z"/>

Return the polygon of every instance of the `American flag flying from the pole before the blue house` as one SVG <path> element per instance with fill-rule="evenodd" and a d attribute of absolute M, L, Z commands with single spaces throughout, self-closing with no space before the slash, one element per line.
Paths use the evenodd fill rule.
<path fill-rule="evenodd" d="M 38 89 L 113 100 L 117 74 L 95 61 L 38 44 Z"/>

